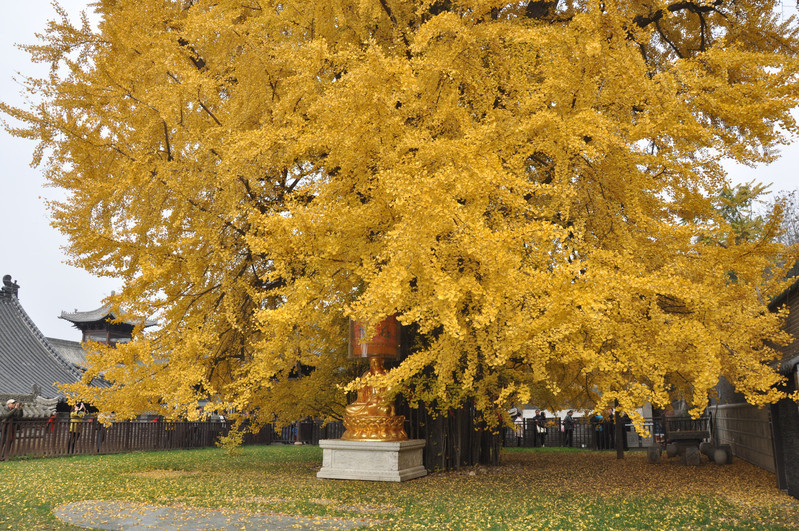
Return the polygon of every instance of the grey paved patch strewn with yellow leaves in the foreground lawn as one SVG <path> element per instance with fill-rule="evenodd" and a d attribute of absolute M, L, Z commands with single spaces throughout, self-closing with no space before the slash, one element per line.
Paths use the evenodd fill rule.
<path fill-rule="evenodd" d="M 354 529 L 375 520 L 328 516 L 286 516 L 237 509 L 166 507 L 125 501 L 80 501 L 57 507 L 53 513 L 63 522 L 86 529 L 139 531 L 246 529 L 269 531 Z"/>

